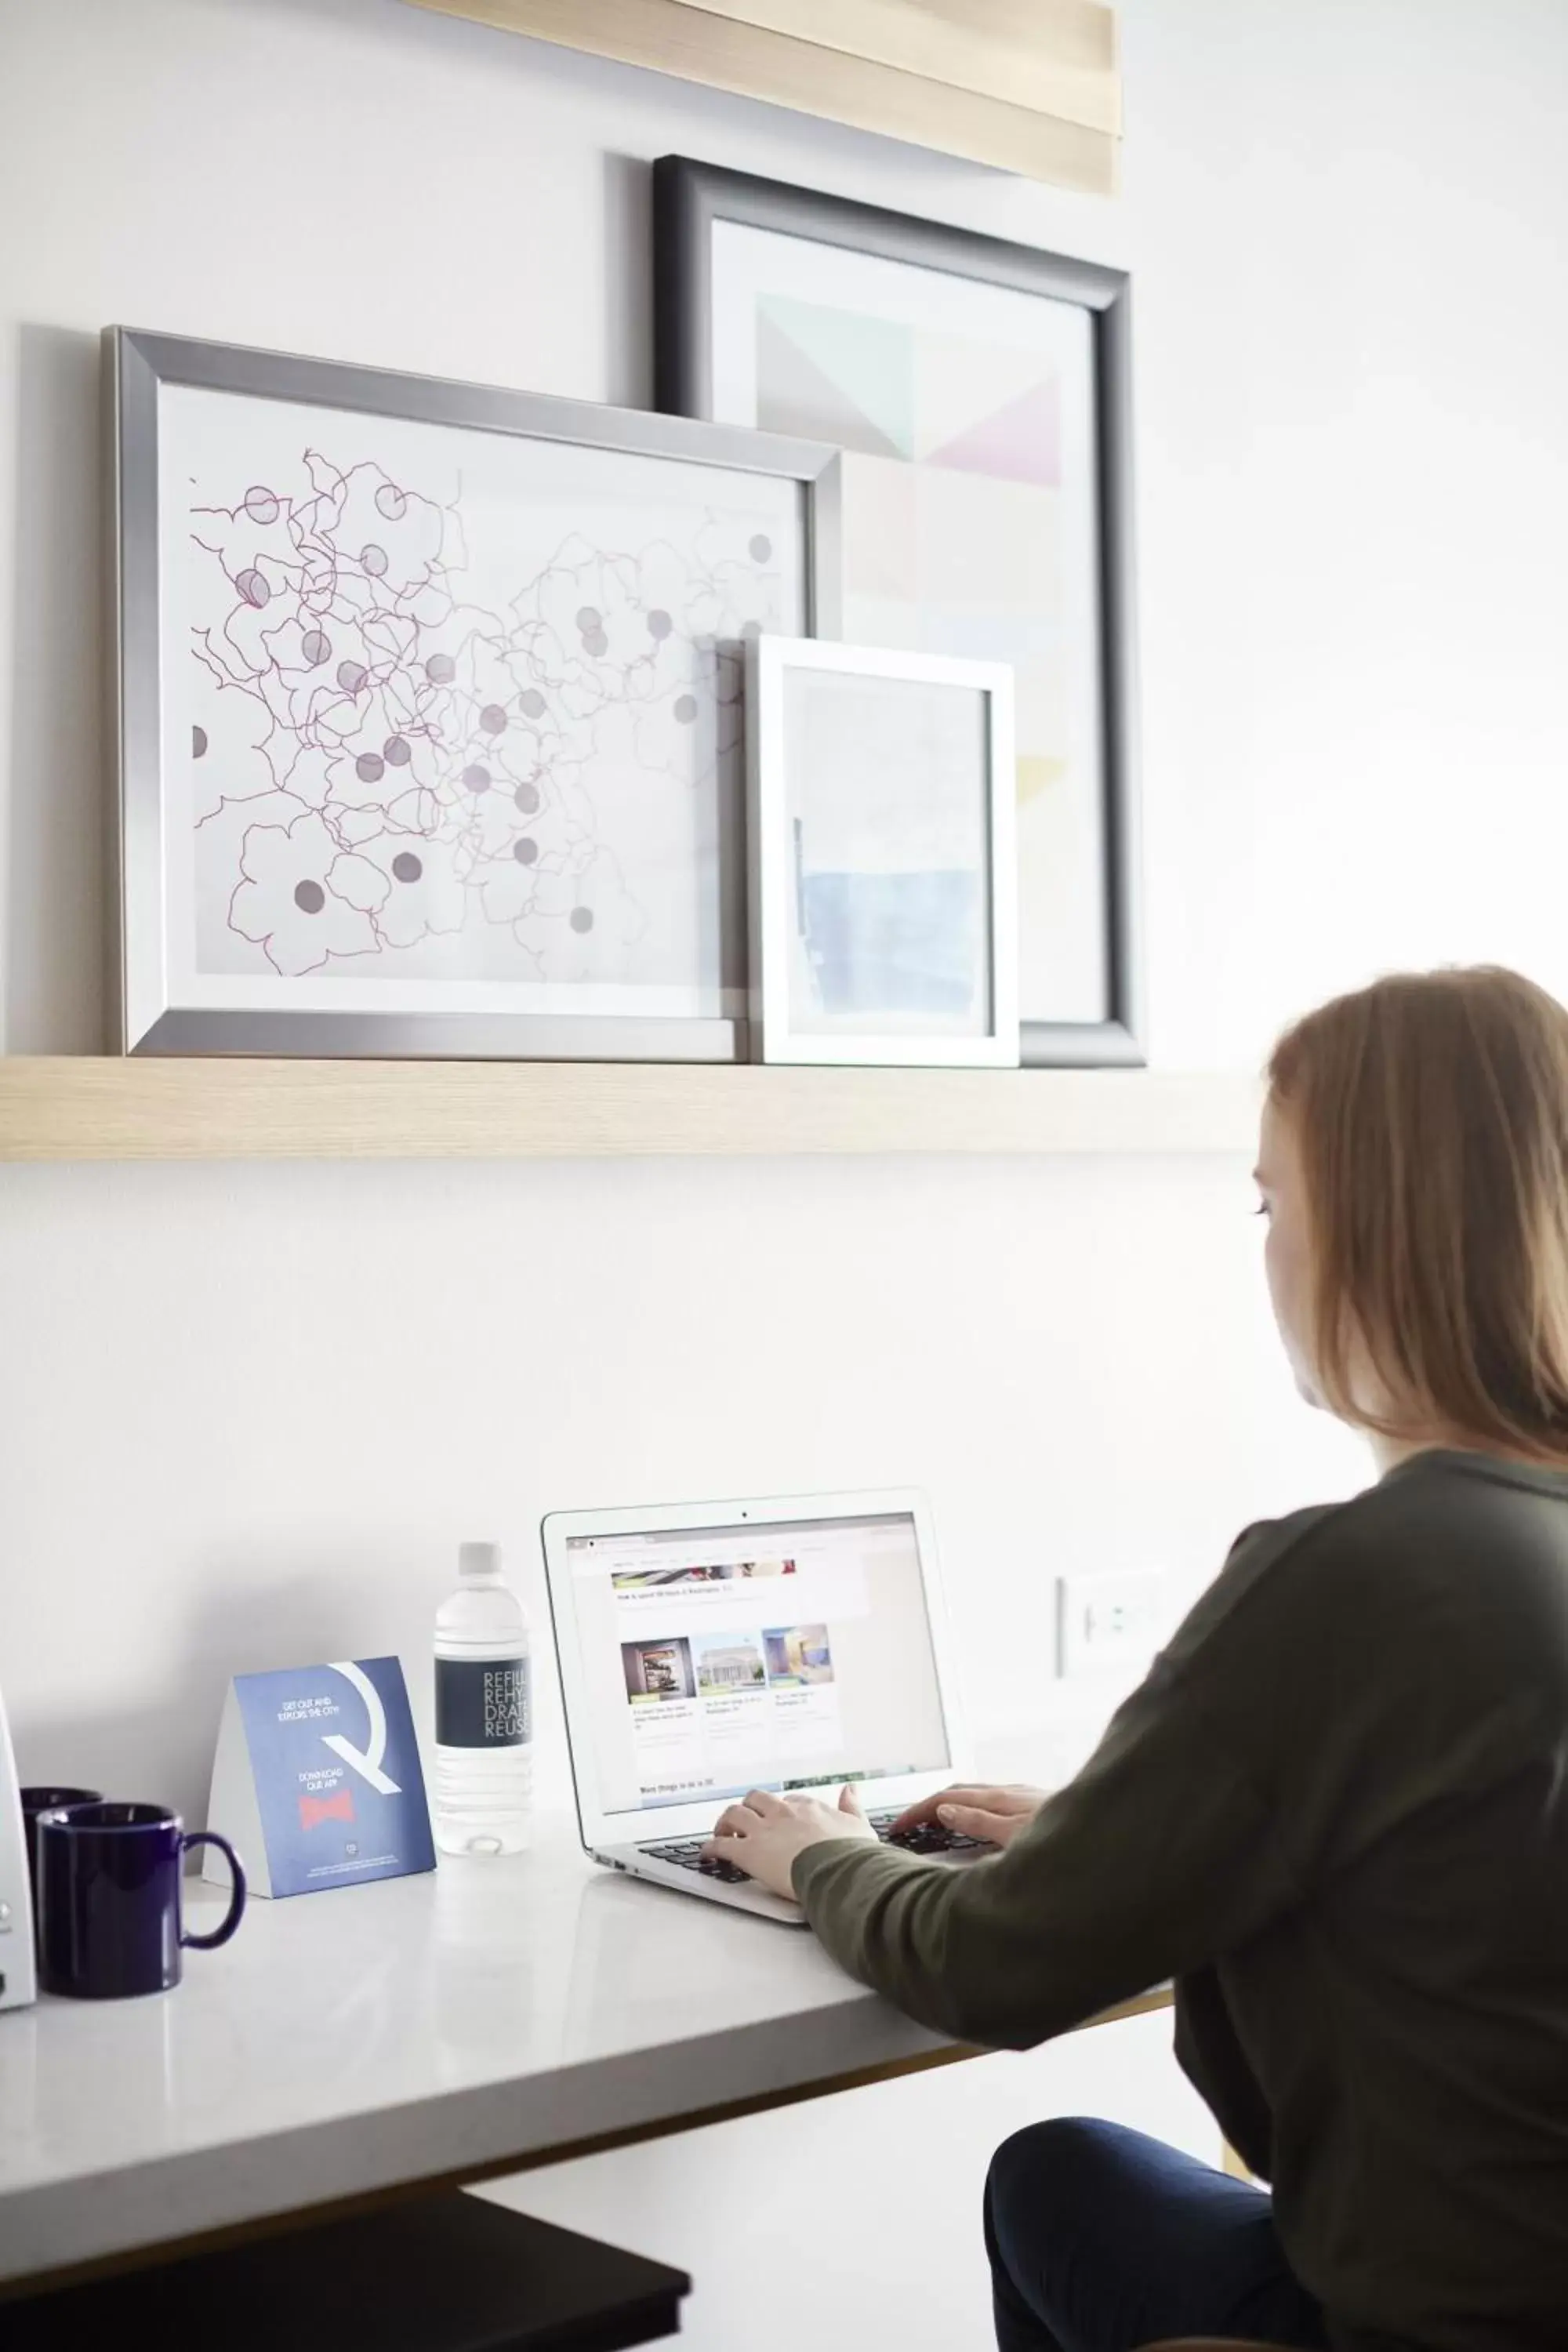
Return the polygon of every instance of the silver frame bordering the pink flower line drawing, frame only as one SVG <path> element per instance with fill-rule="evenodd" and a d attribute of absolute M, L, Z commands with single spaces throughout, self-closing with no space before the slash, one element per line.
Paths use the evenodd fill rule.
<path fill-rule="evenodd" d="M 263 402 L 339 409 L 465 433 L 512 435 L 581 452 L 759 475 L 795 487 L 804 626 L 816 628 L 823 546 L 832 539 L 837 452 L 816 442 L 693 419 L 597 407 L 477 383 L 404 376 L 289 353 L 188 341 L 127 327 L 103 332 L 108 477 L 110 835 L 115 851 L 113 983 L 127 1054 L 437 1056 L 564 1061 L 745 1061 L 745 1016 L 571 1014 L 508 1009 L 301 1009 L 200 1002 L 172 983 L 172 793 L 165 741 L 165 581 L 160 557 L 160 393 L 193 386 Z M 183 755 L 190 757 L 186 741 Z M 719 870 L 724 997 L 745 1000 L 743 776 L 724 809 Z M 287 995 L 284 988 L 277 990 Z M 221 995 L 221 990 L 219 990 Z M 193 1000 L 195 997 L 195 1000 Z"/>

